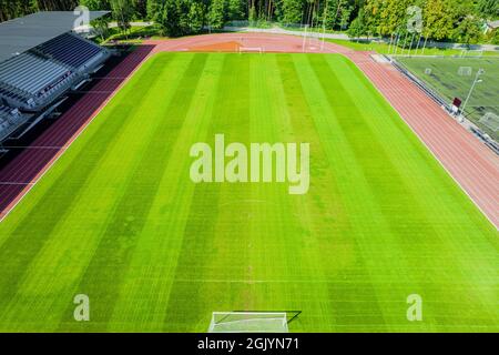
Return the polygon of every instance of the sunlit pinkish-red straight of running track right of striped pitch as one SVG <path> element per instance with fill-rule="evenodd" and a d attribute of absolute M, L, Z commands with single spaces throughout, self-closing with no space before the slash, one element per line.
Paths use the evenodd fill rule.
<path fill-rule="evenodd" d="M 349 53 L 360 70 L 432 152 L 454 180 L 499 227 L 499 156 L 450 118 L 393 65 Z"/>

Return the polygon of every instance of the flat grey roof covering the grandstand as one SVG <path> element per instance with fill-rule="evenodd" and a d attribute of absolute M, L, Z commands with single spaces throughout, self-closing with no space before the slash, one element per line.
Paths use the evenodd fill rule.
<path fill-rule="evenodd" d="M 90 11 L 90 20 L 109 11 Z M 42 11 L 0 23 L 0 62 L 74 29 L 73 11 Z"/>

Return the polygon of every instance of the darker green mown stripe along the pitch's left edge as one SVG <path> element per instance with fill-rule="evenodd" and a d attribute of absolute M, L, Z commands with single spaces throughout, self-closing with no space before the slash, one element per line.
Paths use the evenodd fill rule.
<path fill-rule="evenodd" d="M 156 80 L 157 77 L 144 78 L 144 81 L 140 83 L 143 90 L 128 92 L 123 98 L 124 102 L 140 101 L 149 94 L 149 89 Z M 130 106 L 131 114 L 135 110 L 136 106 Z M 116 114 L 111 116 L 116 119 L 102 125 L 99 134 L 94 134 L 89 141 L 89 149 L 81 151 L 72 160 L 64 172 L 53 181 L 52 189 L 48 189 L 33 205 L 31 209 L 33 213 L 26 215 L 9 239 L 1 244 L 0 313 L 2 307 L 6 307 L 16 295 L 28 265 L 38 255 L 55 226 L 69 213 L 72 203 L 92 174 L 93 168 L 99 165 L 104 158 L 101 151 L 102 146 L 113 144 L 120 132 L 124 130 L 123 121 L 118 119 L 119 109 L 114 108 L 113 111 Z M 68 194 L 68 192 L 71 193 Z M 37 230 L 35 234 L 31 233 L 33 227 Z"/>

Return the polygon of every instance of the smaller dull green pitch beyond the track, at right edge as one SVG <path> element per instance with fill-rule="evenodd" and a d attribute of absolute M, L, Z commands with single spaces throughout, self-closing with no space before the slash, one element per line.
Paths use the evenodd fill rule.
<path fill-rule="evenodd" d="M 499 58 L 400 57 L 397 61 L 426 82 L 448 103 L 451 103 L 454 98 L 459 98 L 464 104 L 477 71 L 482 69 L 481 81 L 476 84 L 465 110 L 471 121 L 499 141 Z M 487 113 L 495 114 L 496 119 L 485 124 L 480 122 L 480 119 Z"/>

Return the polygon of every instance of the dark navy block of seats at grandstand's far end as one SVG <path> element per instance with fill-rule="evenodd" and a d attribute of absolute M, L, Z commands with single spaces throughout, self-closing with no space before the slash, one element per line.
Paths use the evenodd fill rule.
<path fill-rule="evenodd" d="M 106 54 L 101 47 L 71 33 L 59 36 L 34 50 L 77 70 L 90 68 L 96 59 Z"/>

